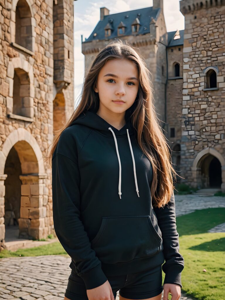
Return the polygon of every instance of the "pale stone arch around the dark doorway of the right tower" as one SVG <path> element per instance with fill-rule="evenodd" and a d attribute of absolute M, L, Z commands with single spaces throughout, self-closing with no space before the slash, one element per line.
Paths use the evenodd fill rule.
<path fill-rule="evenodd" d="M 213 159 L 216 159 L 216 161 L 219 162 L 221 165 L 221 190 L 225 190 L 225 159 L 223 156 L 214 148 L 207 147 L 203 149 L 201 152 L 198 153 L 196 158 L 193 161 L 192 165 L 192 176 L 193 180 L 198 187 L 206 187 L 209 184 L 209 176 L 207 175 L 207 178 L 204 178 L 202 176 L 202 167 L 203 167 L 203 162 L 206 161 L 208 166 L 210 165 L 211 161 Z M 220 172 L 220 170 L 218 170 Z"/>

